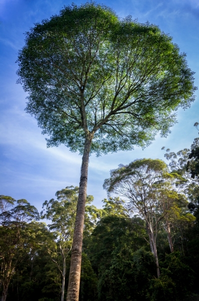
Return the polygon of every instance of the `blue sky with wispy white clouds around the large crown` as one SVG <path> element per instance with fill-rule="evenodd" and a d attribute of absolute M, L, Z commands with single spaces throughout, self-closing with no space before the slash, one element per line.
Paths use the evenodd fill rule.
<path fill-rule="evenodd" d="M 75 1 L 77 5 L 84 1 Z M 198 0 L 115 0 L 97 1 L 111 7 L 119 17 L 158 25 L 173 37 L 181 52 L 187 55 L 188 66 L 195 72 L 199 86 L 199 2 Z M 46 148 L 44 136 L 36 120 L 24 112 L 25 97 L 16 84 L 17 52 L 24 45 L 24 35 L 34 23 L 58 14 L 63 0 L 0 0 L 0 194 L 15 199 L 24 198 L 40 211 L 42 203 L 54 197 L 65 186 L 78 186 L 81 157 L 61 145 Z M 155 141 L 142 150 L 118 152 L 89 160 L 87 193 L 94 196 L 94 204 L 101 207 L 106 197 L 103 180 L 109 170 L 138 158 L 164 159 L 162 146 L 176 152 L 189 147 L 198 136 L 193 127 L 199 122 L 199 99 L 190 109 L 178 110 L 178 123 L 167 138 L 156 136 Z"/>

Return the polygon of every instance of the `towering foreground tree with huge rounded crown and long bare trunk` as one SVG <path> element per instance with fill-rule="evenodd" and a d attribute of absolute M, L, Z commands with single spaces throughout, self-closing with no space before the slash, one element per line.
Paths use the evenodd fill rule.
<path fill-rule="evenodd" d="M 64 7 L 35 24 L 19 52 L 18 82 L 28 93 L 47 146 L 82 155 L 67 300 L 78 300 L 88 158 L 145 146 L 189 107 L 195 87 L 185 55 L 155 25 L 120 19 L 107 7 Z"/>

